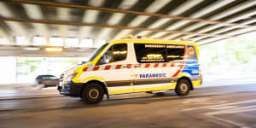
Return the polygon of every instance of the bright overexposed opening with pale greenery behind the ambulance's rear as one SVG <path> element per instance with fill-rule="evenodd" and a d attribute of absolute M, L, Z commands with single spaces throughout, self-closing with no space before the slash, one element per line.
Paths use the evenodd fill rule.
<path fill-rule="evenodd" d="M 199 46 L 204 81 L 255 81 L 256 32 Z M 221 82 L 221 81 L 220 81 Z"/>

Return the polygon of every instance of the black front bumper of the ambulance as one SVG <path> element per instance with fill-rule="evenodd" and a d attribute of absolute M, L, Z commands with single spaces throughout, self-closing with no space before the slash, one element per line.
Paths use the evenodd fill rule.
<path fill-rule="evenodd" d="M 60 82 L 57 90 L 59 90 L 60 94 L 64 96 L 79 97 L 83 90 L 83 84 L 73 83 L 73 81 L 67 83 Z"/>

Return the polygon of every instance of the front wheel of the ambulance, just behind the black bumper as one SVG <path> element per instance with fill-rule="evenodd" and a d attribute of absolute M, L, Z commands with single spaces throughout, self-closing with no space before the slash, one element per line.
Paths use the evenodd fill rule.
<path fill-rule="evenodd" d="M 97 83 L 90 83 L 84 87 L 82 101 L 87 104 L 96 104 L 101 102 L 104 96 L 102 86 Z"/>

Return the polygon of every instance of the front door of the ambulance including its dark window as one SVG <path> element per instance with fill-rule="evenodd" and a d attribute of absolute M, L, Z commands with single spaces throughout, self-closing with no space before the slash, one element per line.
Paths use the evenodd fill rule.
<path fill-rule="evenodd" d="M 127 55 L 127 44 L 113 44 L 96 64 L 104 68 L 100 75 L 108 85 L 109 95 L 132 92 Z"/>

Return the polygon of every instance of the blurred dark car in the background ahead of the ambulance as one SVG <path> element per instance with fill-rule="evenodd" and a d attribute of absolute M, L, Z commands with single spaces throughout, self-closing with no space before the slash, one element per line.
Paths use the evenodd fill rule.
<path fill-rule="evenodd" d="M 36 78 L 36 84 L 40 85 L 42 88 L 49 86 L 56 86 L 59 84 L 59 80 L 54 75 L 38 75 Z"/>

